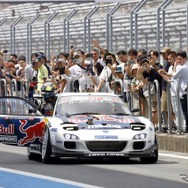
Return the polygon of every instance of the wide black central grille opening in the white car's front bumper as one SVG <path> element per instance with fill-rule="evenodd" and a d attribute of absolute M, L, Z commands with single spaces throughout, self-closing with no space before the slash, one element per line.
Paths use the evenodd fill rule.
<path fill-rule="evenodd" d="M 86 146 L 90 151 L 122 151 L 126 147 L 127 142 L 118 141 L 88 141 Z"/>

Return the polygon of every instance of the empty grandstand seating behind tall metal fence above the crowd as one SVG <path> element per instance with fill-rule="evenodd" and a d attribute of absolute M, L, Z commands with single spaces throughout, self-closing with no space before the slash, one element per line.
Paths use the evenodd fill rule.
<path fill-rule="evenodd" d="M 112 52 L 188 47 L 188 0 L 121 3 L 1 3 L 0 49 L 29 59 L 32 51 L 90 51 L 91 40 Z"/>

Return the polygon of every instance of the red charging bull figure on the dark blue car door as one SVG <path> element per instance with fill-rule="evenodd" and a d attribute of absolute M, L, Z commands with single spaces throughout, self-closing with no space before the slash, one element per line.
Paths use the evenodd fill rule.
<path fill-rule="evenodd" d="M 34 125 L 31 125 L 27 128 L 25 128 L 27 120 L 20 120 L 20 123 L 20 132 L 24 133 L 25 136 L 23 137 L 23 139 L 19 140 L 18 145 L 26 145 L 30 142 L 34 142 L 37 138 L 40 139 L 42 137 L 45 122 L 37 122 Z"/>

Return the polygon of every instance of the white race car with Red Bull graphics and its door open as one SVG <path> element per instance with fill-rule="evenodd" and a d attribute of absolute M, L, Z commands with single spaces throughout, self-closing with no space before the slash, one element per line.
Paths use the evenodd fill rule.
<path fill-rule="evenodd" d="M 60 94 L 50 117 L 34 114 L 29 108 L 32 115 L 12 117 L 12 128 L 7 124 L 1 129 L 4 134 L 0 133 L 4 143 L 7 139 L 9 144 L 27 146 L 29 159 L 42 156 L 43 163 L 61 157 L 139 157 L 144 163 L 158 160 L 153 124 L 144 117 L 131 115 L 115 94 Z M 8 129 L 11 136 L 6 133 Z"/>

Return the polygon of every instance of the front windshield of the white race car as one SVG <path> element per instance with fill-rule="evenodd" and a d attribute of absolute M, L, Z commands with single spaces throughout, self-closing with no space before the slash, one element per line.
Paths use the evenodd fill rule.
<path fill-rule="evenodd" d="M 55 115 L 76 114 L 130 115 L 130 111 L 118 96 L 75 95 L 59 98 Z"/>

